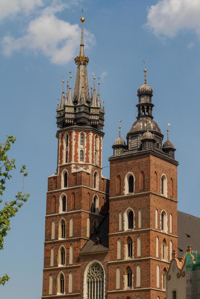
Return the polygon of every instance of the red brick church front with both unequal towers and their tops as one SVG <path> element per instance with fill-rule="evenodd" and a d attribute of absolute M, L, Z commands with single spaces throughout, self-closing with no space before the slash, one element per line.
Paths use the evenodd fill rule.
<path fill-rule="evenodd" d="M 83 22 L 76 82 L 57 105 L 57 172 L 48 177 L 42 298 L 164 299 L 177 250 L 175 148 L 153 120 L 153 90 L 139 87 L 137 120 L 102 175 L 105 110 L 87 80 Z M 70 76 L 71 77 L 71 76 Z M 94 77 L 95 82 L 95 77 Z M 63 82 L 64 83 L 64 82 Z"/>

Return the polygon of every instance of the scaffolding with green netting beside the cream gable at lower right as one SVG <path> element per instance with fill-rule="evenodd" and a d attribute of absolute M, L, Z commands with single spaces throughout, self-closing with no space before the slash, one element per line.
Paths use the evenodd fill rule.
<path fill-rule="evenodd" d="M 200 298 L 200 252 L 186 252 L 186 299 Z"/>

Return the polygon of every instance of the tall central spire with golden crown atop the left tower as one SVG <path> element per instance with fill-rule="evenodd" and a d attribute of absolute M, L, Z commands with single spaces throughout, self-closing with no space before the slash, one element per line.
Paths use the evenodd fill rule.
<path fill-rule="evenodd" d="M 88 79 L 87 79 L 87 64 L 89 62 L 89 58 L 85 56 L 84 52 L 84 44 L 83 44 L 83 22 L 85 18 L 80 19 L 82 22 L 82 29 L 81 29 L 81 41 L 80 41 L 80 51 L 79 56 L 76 56 L 75 63 L 77 65 L 76 71 L 76 82 L 74 87 L 74 97 L 73 101 L 76 103 L 80 102 L 80 97 L 82 93 L 82 88 L 84 87 L 84 98 L 86 102 L 90 102 L 89 98 L 89 88 L 88 88 Z M 84 75 L 82 77 L 82 75 Z"/>

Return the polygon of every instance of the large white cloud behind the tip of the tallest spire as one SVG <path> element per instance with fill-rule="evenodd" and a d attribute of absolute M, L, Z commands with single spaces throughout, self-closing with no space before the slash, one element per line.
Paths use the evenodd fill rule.
<path fill-rule="evenodd" d="M 2 38 L 2 52 L 10 56 L 14 51 L 28 50 L 42 53 L 50 62 L 65 64 L 78 54 L 81 29 L 78 24 L 59 20 L 54 13 L 67 7 L 60 3 L 46 7 L 40 16 L 31 20 L 24 36 L 15 38 L 7 35 Z M 86 46 L 94 43 L 94 35 L 84 29 Z"/>

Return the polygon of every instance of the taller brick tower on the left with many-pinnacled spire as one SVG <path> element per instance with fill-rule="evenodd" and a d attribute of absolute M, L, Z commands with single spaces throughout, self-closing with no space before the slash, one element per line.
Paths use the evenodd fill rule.
<path fill-rule="evenodd" d="M 109 181 L 102 176 L 105 112 L 95 84 L 89 96 L 84 20 L 74 95 L 70 76 L 67 97 L 63 88 L 57 106 L 57 172 L 48 177 L 42 298 L 83 296 L 80 250 L 108 212 Z"/>

